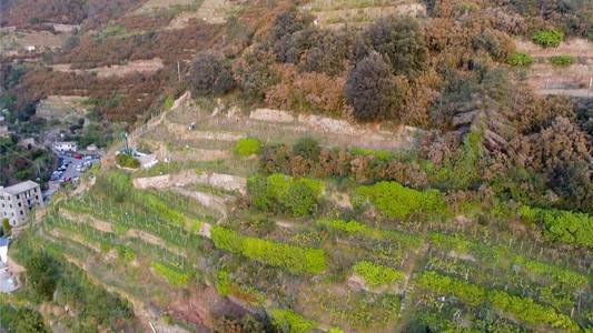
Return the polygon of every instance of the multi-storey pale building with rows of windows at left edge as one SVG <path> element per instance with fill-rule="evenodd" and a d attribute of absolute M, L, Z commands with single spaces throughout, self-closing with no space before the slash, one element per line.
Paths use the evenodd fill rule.
<path fill-rule="evenodd" d="M 43 196 L 39 184 L 24 181 L 12 186 L 0 186 L 0 220 L 8 219 L 10 225 L 24 222 L 29 213 L 43 206 Z"/>

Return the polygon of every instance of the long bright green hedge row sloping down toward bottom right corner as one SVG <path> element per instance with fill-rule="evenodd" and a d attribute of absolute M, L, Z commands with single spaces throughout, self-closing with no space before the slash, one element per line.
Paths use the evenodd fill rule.
<path fill-rule="evenodd" d="M 421 287 L 437 294 L 454 295 L 470 305 L 477 306 L 490 303 L 522 321 L 532 325 L 545 323 L 552 327 L 579 332 L 580 329 L 569 316 L 556 313 L 553 309 L 535 303 L 532 299 L 510 295 L 501 291 L 490 291 L 471 283 L 439 275 L 435 272 L 425 272 L 418 276 Z"/>

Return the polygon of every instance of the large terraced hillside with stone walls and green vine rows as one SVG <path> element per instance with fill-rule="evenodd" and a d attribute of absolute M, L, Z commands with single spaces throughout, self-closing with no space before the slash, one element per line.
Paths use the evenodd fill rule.
<path fill-rule="evenodd" d="M 263 121 L 254 111 L 245 120 L 233 108 L 208 111 L 206 102 L 184 95 L 134 135 L 169 163 L 130 171 L 108 157 L 82 191 L 47 208 L 11 255 L 43 243 L 131 302 L 145 331 L 227 332 L 247 314 L 256 327 L 284 332 L 592 327 L 591 243 L 567 246 L 561 218 L 550 218 L 569 214 L 586 232 L 591 216 L 513 202 L 487 208 L 406 175 L 368 185 L 356 173 L 360 161 L 407 176 L 413 167 L 298 123 L 296 114 L 267 110 Z M 270 131 L 270 114 L 285 121 L 276 122 L 281 130 Z M 337 171 L 324 167 L 312 178 L 295 158 L 286 169 L 281 144 L 314 164 L 330 164 L 333 148 L 352 170 L 332 176 Z M 397 149 L 380 140 L 375 147 Z M 545 242 L 551 233 L 563 241 Z"/>

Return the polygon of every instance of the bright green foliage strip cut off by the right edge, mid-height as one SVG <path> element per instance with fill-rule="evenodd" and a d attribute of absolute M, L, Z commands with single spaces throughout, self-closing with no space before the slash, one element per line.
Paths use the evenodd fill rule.
<path fill-rule="evenodd" d="M 548 242 L 565 242 L 575 246 L 593 248 L 593 216 L 585 213 L 546 210 L 523 205 L 518 213 L 530 224 L 542 223 Z"/>

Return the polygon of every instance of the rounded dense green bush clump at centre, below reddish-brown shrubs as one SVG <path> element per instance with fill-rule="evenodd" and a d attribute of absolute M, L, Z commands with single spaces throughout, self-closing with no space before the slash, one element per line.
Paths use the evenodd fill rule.
<path fill-rule="evenodd" d="M 322 195 L 322 184 L 312 179 L 298 180 L 285 174 L 255 175 L 247 179 L 251 205 L 261 211 L 285 212 L 293 216 L 313 213 Z"/>

